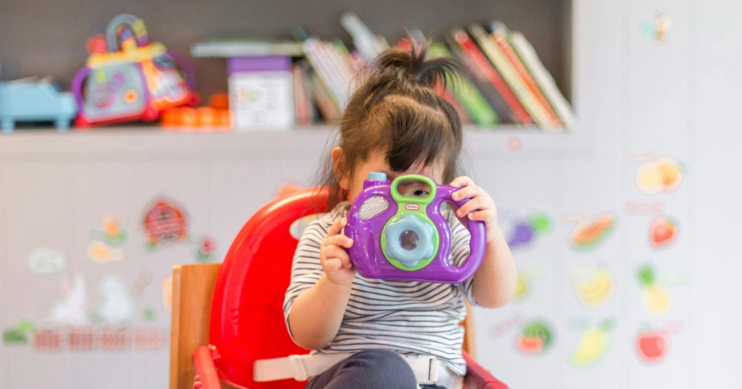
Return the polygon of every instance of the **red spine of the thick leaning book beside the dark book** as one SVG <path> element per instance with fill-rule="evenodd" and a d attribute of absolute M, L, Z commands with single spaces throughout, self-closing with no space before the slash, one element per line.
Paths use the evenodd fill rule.
<path fill-rule="evenodd" d="M 490 82 L 490 84 L 492 84 L 492 86 L 500 94 L 500 96 L 502 96 L 502 99 L 505 99 L 505 102 L 508 104 L 510 109 L 513 111 L 513 114 L 515 114 L 517 118 L 516 122 L 522 122 L 523 124 L 533 124 L 531 115 L 528 114 L 528 111 L 525 110 L 525 107 L 523 107 L 522 103 L 518 100 L 515 94 L 513 94 L 513 91 L 510 90 L 508 85 L 505 84 L 505 81 L 502 79 L 499 73 L 497 73 L 495 68 L 493 68 L 490 61 L 482 53 L 482 50 L 479 50 L 479 48 L 469 37 L 469 35 L 464 32 L 464 30 L 455 29 L 453 30 L 453 38 L 456 40 L 456 42 L 459 43 L 459 45 L 461 45 L 461 47 L 464 49 L 464 52 L 467 53 L 469 58 L 472 60 L 473 64 L 476 65 L 479 73 L 482 73 L 487 81 Z"/>

